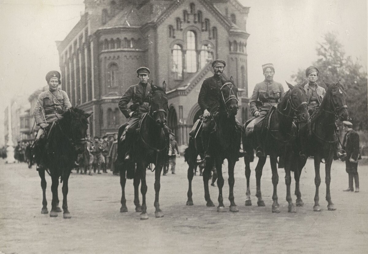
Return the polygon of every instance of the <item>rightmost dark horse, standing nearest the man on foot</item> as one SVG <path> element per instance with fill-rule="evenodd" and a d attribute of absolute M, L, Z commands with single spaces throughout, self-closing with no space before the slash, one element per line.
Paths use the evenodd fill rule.
<path fill-rule="evenodd" d="M 348 112 L 345 104 L 346 92 L 340 82 L 336 84 L 327 84 L 325 97 L 319 105 L 319 108 L 315 109 L 311 119 L 307 125 L 301 127 L 299 133 L 300 138 L 305 140 L 305 152 L 308 156 L 314 157 L 314 169 L 315 178 L 314 182 L 316 185 L 316 193 L 314 196 L 314 211 L 321 211 L 319 206 L 318 189 L 321 184 L 321 177 L 319 176 L 319 166 L 322 159 L 325 159 L 325 170 L 326 170 L 326 200 L 328 202 L 328 210 L 336 210 L 330 195 L 330 182 L 331 182 L 331 164 L 333 160 L 333 153 L 336 149 L 339 137 L 337 136 L 335 121 L 340 119 L 341 121 L 347 120 Z M 301 199 L 301 193 L 299 189 L 299 178 L 307 159 L 301 159 L 299 157 L 300 147 L 297 142 L 289 150 L 289 157 L 292 170 L 294 171 L 295 178 L 295 195 L 297 196 L 297 206 L 302 206 L 303 202 Z"/>

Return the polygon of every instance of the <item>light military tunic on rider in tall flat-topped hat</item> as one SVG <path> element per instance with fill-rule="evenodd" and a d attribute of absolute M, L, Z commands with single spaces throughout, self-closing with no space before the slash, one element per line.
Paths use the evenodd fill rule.
<path fill-rule="evenodd" d="M 278 82 L 264 80 L 256 84 L 249 103 L 252 115 L 256 111 L 262 115 L 266 114 L 267 110 L 279 103 L 283 97 L 284 88 Z"/>

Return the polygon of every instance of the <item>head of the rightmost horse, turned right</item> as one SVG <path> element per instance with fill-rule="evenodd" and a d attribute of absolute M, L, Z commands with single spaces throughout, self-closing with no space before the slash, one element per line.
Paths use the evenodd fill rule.
<path fill-rule="evenodd" d="M 327 86 L 327 91 L 320 107 L 325 109 L 325 112 L 333 113 L 336 119 L 339 118 L 341 121 L 347 120 L 349 115 L 345 102 L 346 89 L 340 83 L 340 80 L 335 84 L 326 83 L 324 80 L 323 82 Z"/>

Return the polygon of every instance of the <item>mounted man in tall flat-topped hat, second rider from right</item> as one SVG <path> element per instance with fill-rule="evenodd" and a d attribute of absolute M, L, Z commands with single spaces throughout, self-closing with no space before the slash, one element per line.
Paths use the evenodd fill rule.
<path fill-rule="evenodd" d="M 284 97 L 284 88 L 282 84 L 273 81 L 275 75 L 275 68 L 272 63 L 262 65 L 263 75 L 265 80 L 255 85 L 252 97 L 249 102 L 251 113 L 255 119 L 259 116 L 265 116 L 267 111 L 278 104 Z M 256 149 L 256 156 L 264 156 L 263 149 L 258 146 Z"/>

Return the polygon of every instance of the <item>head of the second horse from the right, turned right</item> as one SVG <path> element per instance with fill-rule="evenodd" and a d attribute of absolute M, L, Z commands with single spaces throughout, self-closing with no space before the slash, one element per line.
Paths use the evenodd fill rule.
<path fill-rule="evenodd" d="M 309 113 L 307 109 L 307 94 L 305 93 L 304 88 L 299 84 L 296 84 L 295 86 L 287 82 L 286 84 L 290 90 L 284 100 L 287 99 L 287 104 L 290 105 L 289 112 L 297 113 L 299 120 L 302 122 L 308 121 Z M 280 102 L 280 105 L 283 105 L 283 103 Z"/>

